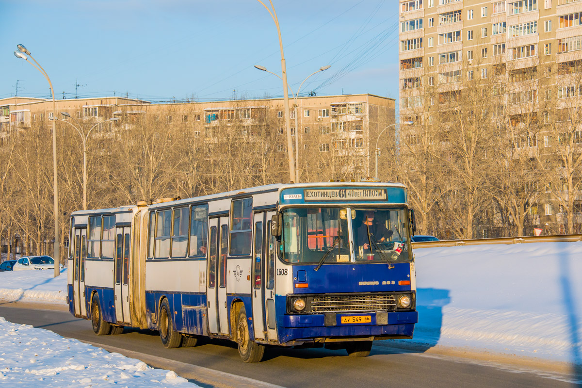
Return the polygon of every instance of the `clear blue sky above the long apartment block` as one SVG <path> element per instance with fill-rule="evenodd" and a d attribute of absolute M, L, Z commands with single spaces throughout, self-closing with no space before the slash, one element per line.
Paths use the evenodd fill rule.
<path fill-rule="evenodd" d="M 268 5 L 268 0 L 265 0 Z M 289 83 L 318 95 L 398 97 L 396 0 L 274 0 Z M 281 96 L 275 23 L 257 0 L 0 0 L 0 98 L 48 97 L 42 75 L 12 54 L 25 45 L 56 98 L 148 101 Z M 233 92 L 235 90 L 235 92 Z"/>

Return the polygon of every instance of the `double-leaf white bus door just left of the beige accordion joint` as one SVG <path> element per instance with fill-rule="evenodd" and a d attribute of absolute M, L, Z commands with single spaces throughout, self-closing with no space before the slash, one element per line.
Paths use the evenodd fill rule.
<path fill-rule="evenodd" d="M 130 323 L 129 316 L 129 234 L 131 227 L 117 227 L 115 233 L 115 319 Z"/>

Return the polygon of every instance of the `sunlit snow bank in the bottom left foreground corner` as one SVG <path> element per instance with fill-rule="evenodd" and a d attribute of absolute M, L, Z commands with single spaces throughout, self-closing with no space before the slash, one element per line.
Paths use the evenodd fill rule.
<path fill-rule="evenodd" d="M 173 371 L 0 317 L 0 385 L 195 388 Z"/>

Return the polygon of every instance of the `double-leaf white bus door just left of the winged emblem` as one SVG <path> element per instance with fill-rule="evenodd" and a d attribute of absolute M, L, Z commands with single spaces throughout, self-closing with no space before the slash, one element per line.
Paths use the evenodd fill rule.
<path fill-rule="evenodd" d="M 208 279 L 206 298 L 208 331 L 228 334 L 228 308 L 226 307 L 226 254 L 228 252 L 228 217 L 211 218 L 208 222 Z"/>

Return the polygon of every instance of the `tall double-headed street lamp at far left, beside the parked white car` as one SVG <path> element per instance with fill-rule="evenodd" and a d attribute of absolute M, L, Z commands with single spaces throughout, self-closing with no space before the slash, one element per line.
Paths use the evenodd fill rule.
<path fill-rule="evenodd" d="M 40 65 L 40 63 L 38 63 L 37 60 L 34 59 L 32 55 L 30 55 L 30 51 L 28 51 L 26 49 L 26 47 L 24 47 L 22 44 L 19 44 L 16 47 L 18 48 L 18 51 L 14 52 L 14 55 L 16 56 L 16 58 L 21 58 L 21 59 L 26 60 L 26 62 L 28 62 L 31 65 L 33 65 L 34 67 L 36 67 L 36 69 L 39 72 L 41 72 L 42 75 L 47 79 L 48 84 L 51 87 L 51 94 L 52 94 L 52 116 L 53 116 L 53 118 L 56 118 L 55 91 L 52 88 L 51 79 L 49 79 L 47 72 L 45 72 L 44 69 L 42 69 L 42 66 Z M 29 56 L 32 60 L 34 60 L 34 63 L 36 63 L 36 65 L 34 65 L 34 63 L 30 62 Z M 54 256 L 55 256 L 55 277 L 57 277 L 61 273 L 60 272 L 61 256 L 60 256 L 60 252 L 59 252 L 59 190 L 58 190 L 58 186 L 56 183 L 56 124 L 55 124 L 55 120 L 53 120 L 53 122 L 52 122 L 52 192 L 53 192 L 53 196 L 55 198 L 55 204 L 54 204 L 54 207 L 55 207 L 54 208 L 54 212 L 55 212 Z"/>

